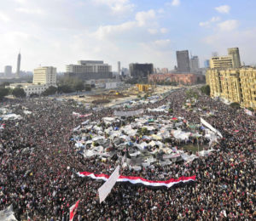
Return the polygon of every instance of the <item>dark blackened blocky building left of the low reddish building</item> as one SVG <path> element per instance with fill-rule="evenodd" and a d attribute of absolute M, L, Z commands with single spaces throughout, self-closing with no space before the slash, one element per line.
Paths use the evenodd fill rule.
<path fill-rule="evenodd" d="M 130 76 L 134 78 L 147 78 L 154 73 L 153 64 L 130 64 Z"/>

